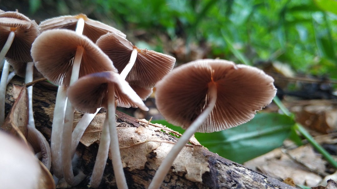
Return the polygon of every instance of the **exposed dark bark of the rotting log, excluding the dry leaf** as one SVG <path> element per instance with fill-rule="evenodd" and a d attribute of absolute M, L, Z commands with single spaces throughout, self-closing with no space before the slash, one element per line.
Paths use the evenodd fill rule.
<path fill-rule="evenodd" d="M 13 98 L 10 90 L 12 85 L 22 85 L 23 80 L 15 77 L 13 82 L 7 87 L 6 94 L 6 114 L 8 113 Z M 56 88 L 51 86 L 45 86 L 40 83 L 34 85 L 33 103 L 34 103 L 34 117 L 36 128 L 42 132 L 42 134 L 50 142 L 51 125 L 52 125 L 52 113 L 54 111 L 54 103 L 56 96 Z M 117 122 L 119 127 L 143 127 L 136 121 L 134 117 L 131 117 L 122 112 L 117 112 Z M 155 136 L 158 137 L 158 141 L 175 141 L 175 137 L 164 132 L 155 131 Z M 132 140 L 124 138 L 123 140 Z M 77 151 L 77 163 L 75 166 L 80 168 L 87 174 L 87 178 L 80 183 L 79 186 L 73 186 L 71 188 L 88 188 L 88 183 L 92 168 L 94 165 L 95 156 L 97 153 L 98 144 L 86 147 L 80 144 Z M 274 178 L 270 178 L 261 173 L 249 170 L 241 164 L 232 162 L 225 158 L 218 156 L 215 153 L 202 149 L 203 156 L 208 159 L 209 172 L 205 172 L 202 175 L 202 182 L 193 182 L 186 179 L 185 172 L 175 173 L 172 169 L 168 173 L 161 188 L 282 188 L 282 189 L 295 189 L 295 187 L 289 186 Z M 129 188 L 147 188 L 151 178 L 153 177 L 156 166 L 156 153 L 151 151 L 146 155 L 146 163 L 144 169 L 124 169 L 126 179 Z M 76 170 L 76 169 L 74 169 Z M 106 168 L 102 183 L 99 188 L 116 188 L 114 180 L 114 174 L 112 171 L 111 160 L 107 161 Z"/>

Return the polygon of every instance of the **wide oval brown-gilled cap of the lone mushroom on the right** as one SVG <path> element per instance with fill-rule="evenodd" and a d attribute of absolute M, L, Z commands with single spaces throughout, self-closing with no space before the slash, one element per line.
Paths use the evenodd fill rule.
<path fill-rule="evenodd" d="M 276 94 L 274 79 L 262 70 L 227 60 L 203 59 L 181 65 L 156 85 L 156 105 L 165 119 L 188 128 L 207 107 L 208 86 L 217 100 L 197 132 L 215 132 L 251 120 Z"/>

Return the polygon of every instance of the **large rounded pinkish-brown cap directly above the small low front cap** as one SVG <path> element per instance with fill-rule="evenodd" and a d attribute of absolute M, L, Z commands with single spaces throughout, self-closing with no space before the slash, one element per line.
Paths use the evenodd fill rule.
<path fill-rule="evenodd" d="M 117 72 L 109 57 L 89 38 L 66 29 L 42 32 L 32 45 L 31 55 L 35 67 L 45 78 L 67 87 L 78 47 L 84 49 L 79 77 L 110 70 Z"/>

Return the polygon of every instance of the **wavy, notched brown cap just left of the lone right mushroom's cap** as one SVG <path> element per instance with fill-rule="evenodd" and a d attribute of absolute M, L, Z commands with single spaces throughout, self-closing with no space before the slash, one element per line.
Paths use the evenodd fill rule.
<path fill-rule="evenodd" d="M 122 36 L 108 33 L 101 36 L 96 44 L 114 62 L 118 72 L 121 73 L 128 64 L 132 50 L 137 49 L 137 58 L 126 76 L 130 85 L 143 88 L 152 88 L 166 74 L 171 72 L 176 59 L 172 56 L 147 49 L 138 49 Z"/>

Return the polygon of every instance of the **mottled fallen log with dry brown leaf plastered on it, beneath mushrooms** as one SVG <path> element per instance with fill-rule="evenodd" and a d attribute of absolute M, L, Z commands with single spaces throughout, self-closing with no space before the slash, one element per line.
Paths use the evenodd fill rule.
<path fill-rule="evenodd" d="M 7 87 L 6 114 L 13 104 L 12 85 L 23 85 L 23 80 L 14 77 Z M 50 142 L 53 120 L 56 87 L 37 83 L 33 87 L 33 110 L 36 128 Z M 124 163 L 124 172 L 129 188 L 147 188 L 155 174 L 163 154 L 177 141 L 170 134 L 172 131 L 153 124 L 146 125 L 134 117 L 117 111 L 117 128 L 120 148 Z M 75 112 L 74 120 L 79 120 L 83 114 Z M 82 142 L 92 143 L 99 139 L 103 123 L 104 111 L 99 113 L 86 131 Z M 99 140 L 98 140 L 99 141 Z M 88 188 L 90 175 L 98 149 L 97 142 L 90 146 L 79 144 L 75 168 L 81 169 L 87 175 L 78 186 L 71 188 Z M 195 145 L 193 145 L 195 144 Z M 239 163 L 218 156 L 206 148 L 191 141 L 184 148 L 182 155 L 175 160 L 171 170 L 165 177 L 161 188 L 281 188 L 295 189 L 274 178 L 249 170 Z M 188 158 L 191 158 L 188 159 Z M 52 172 L 52 170 L 51 170 Z M 62 183 L 62 182 L 61 182 Z M 99 188 L 116 188 L 111 160 L 108 159 L 102 182 Z"/>

